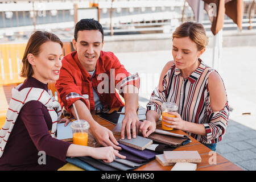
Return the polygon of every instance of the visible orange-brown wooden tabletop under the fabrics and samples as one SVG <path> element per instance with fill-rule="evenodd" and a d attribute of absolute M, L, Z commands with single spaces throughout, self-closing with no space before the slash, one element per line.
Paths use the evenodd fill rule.
<path fill-rule="evenodd" d="M 93 114 L 93 118 L 95 119 L 95 121 L 97 121 L 98 123 L 100 123 L 100 125 L 107 127 L 110 130 L 113 130 L 113 128 L 115 127 L 115 125 L 113 125 L 112 123 L 105 121 L 104 119 L 99 118 L 97 115 Z M 157 126 L 158 129 L 161 126 Z M 176 133 L 176 134 L 185 134 L 183 131 L 181 130 L 172 130 L 170 131 L 172 133 Z M 185 134 L 187 135 L 187 134 Z M 114 137 L 119 140 L 121 138 L 120 135 L 114 135 Z M 236 164 L 230 162 L 228 159 L 225 159 L 224 157 L 222 157 L 220 154 L 216 154 L 216 164 L 211 164 L 214 161 L 212 160 L 213 158 L 213 154 L 212 154 L 212 150 L 210 150 L 208 147 L 204 146 L 203 144 L 201 144 L 200 142 L 198 142 L 196 139 L 192 138 L 189 136 L 189 138 L 191 139 L 191 143 L 186 144 L 185 146 L 179 146 L 175 149 L 175 151 L 198 151 L 201 158 L 202 158 L 202 162 L 201 163 L 197 163 L 197 171 L 242 171 L 243 169 L 236 166 Z M 211 152 L 212 151 L 212 152 Z M 210 160 L 210 162 L 209 162 Z M 151 162 L 135 169 L 136 171 L 170 171 L 171 168 L 173 166 L 162 166 L 157 160 L 152 160 Z M 64 166 L 65 168 L 65 166 Z M 67 169 L 67 168 L 65 168 Z"/>

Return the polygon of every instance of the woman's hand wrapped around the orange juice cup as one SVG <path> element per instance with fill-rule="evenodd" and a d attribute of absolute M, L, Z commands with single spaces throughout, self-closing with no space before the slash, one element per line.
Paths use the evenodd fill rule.
<path fill-rule="evenodd" d="M 170 115 L 175 115 L 175 117 L 163 117 L 163 121 L 170 124 L 170 125 L 166 125 L 164 124 L 164 126 L 166 127 L 170 127 L 172 129 L 179 129 L 179 130 L 185 130 L 185 125 L 187 123 L 187 121 L 184 121 L 183 119 L 181 119 L 180 114 L 177 112 L 167 112 Z"/>

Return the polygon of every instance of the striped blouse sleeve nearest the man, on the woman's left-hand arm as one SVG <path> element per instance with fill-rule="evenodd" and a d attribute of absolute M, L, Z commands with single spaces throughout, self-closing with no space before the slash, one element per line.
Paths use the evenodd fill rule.
<path fill-rule="evenodd" d="M 148 110 L 154 110 L 159 115 L 162 114 L 161 106 L 163 102 L 167 101 L 166 97 L 166 90 L 167 90 L 167 83 L 169 82 L 169 76 L 170 72 L 168 71 L 167 74 L 163 78 L 163 92 L 159 90 L 159 87 L 156 87 L 150 97 L 150 100 L 147 104 L 147 111 Z"/>

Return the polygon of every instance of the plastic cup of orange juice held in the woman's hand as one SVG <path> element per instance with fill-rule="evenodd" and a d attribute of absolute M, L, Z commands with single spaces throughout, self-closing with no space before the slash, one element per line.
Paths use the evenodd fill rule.
<path fill-rule="evenodd" d="M 164 126 L 166 125 L 171 125 L 169 123 L 166 123 L 163 121 L 163 117 L 172 117 L 175 118 L 175 115 L 168 114 L 168 112 L 177 112 L 178 111 L 178 106 L 174 102 L 164 102 L 161 106 L 162 109 L 162 129 L 163 130 L 173 130 L 171 127 Z"/>

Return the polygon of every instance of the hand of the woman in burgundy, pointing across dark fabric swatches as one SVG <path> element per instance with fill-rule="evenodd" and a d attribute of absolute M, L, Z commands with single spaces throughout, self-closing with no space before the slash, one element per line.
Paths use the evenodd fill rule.
<path fill-rule="evenodd" d="M 114 150 L 113 147 L 96 147 L 93 148 L 90 156 L 94 159 L 102 159 L 105 163 L 111 163 L 115 159 L 115 156 L 121 159 L 125 159 L 126 156 L 123 156 L 118 153 L 118 150 Z"/>

